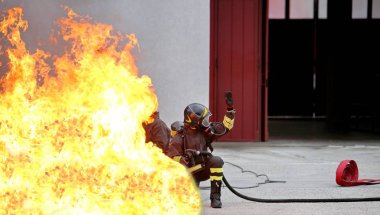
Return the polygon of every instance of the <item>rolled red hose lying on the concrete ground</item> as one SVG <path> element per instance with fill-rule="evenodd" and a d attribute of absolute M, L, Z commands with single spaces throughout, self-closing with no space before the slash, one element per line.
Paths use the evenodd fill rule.
<path fill-rule="evenodd" d="M 358 165 L 354 160 L 340 162 L 336 170 L 336 183 L 343 187 L 379 184 L 380 179 L 359 179 Z"/>

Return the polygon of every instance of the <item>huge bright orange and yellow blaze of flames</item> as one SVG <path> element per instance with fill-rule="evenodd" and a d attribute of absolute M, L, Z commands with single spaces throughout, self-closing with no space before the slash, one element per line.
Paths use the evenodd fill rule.
<path fill-rule="evenodd" d="M 145 143 L 135 35 L 66 11 L 61 55 L 26 48 L 21 8 L 0 20 L 0 214 L 199 214 L 186 169 Z"/>

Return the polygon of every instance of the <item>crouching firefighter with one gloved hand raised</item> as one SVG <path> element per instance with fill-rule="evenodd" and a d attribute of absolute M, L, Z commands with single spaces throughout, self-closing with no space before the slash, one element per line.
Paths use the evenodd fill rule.
<path fill-rule="evenodd" d="M 211 143 L 228 133 L 234 126 L 235 110 L 232 95 L 227 101 L 227 112 L 223 122 L 210 122 L 211 112 L 202 104 L 192 103 L 184 110 L 184 121 L 174 122 L 171 128 L 178 129 L 172 137 L 167 155 L 188 167 L 194 181 L 210 179 L 211 207 L 221 208 L 221 185 L 223 179 L 223 160 L 213 156 Z M 181 126 L 183 125 L 183 126 Z"/>

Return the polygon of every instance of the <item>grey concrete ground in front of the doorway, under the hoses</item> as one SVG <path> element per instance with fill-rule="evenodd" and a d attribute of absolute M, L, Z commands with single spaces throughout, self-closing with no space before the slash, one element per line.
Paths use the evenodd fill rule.
<path fill-rule="evenodd" d="M 301 129 L 302 130 L 302 129 Z M 306 129 L 307 130 L 307 129 Z M 277 134 L 276 134 L 277 135 Z M 261 184 L 238 189 L 244 195 L 262 199 L 297 198 L 365 198 L 379 197 L 380 184 L 341 187 L 335 182 L 336 169 L 342 160 L 355 160 L 359 179 L 380 178 L 379 135 L 350 133 L 338 136 L 309 133 L 300 136 L 274 135 L 268 142 L 215 142 L 214 155 L 226 162 L 224 174 L 235 187 L 257 186 L 265 181 L 227 162 L 270 180 L 285 183 Z M 222 187 L 223 208 L 210 207 L 209 181 L 201 182 L 201 214 L 263 215 L 364 215 L 380 214 L 380 202 L 348 203 L 259 203 L 244 200 Z"/>

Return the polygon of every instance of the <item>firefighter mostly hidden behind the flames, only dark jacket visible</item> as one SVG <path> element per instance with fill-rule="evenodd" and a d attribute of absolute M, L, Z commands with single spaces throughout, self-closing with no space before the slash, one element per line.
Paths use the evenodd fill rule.
<path fill-rule="evenodd" d="M 159 112 L 154 112 L 148 121 L 143 122 L 143 127 L 145 130 L 145 142 L 152 142 L 165 153 L 170 141 L 170 129 L 160 119 Z"/>

